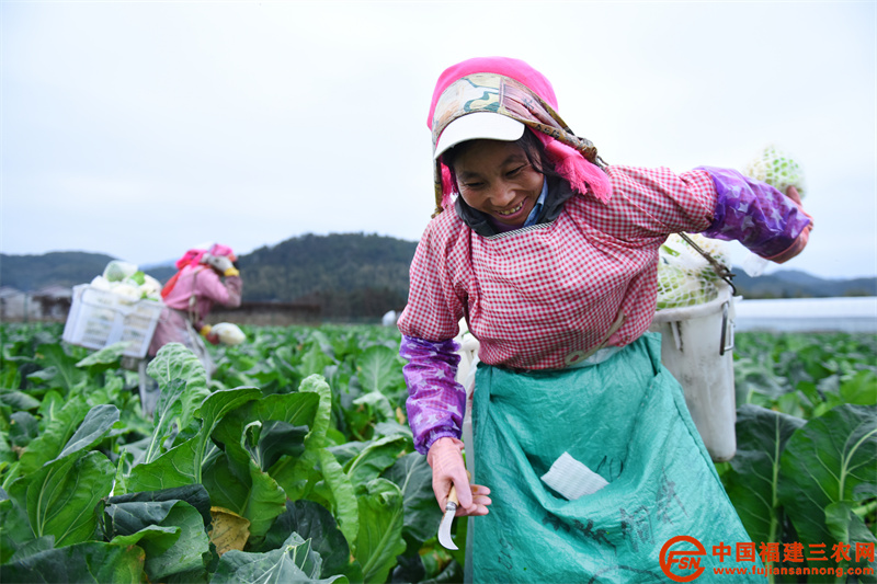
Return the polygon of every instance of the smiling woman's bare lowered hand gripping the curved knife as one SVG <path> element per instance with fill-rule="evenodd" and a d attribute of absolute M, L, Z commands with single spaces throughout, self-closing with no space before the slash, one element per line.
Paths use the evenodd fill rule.
<path fill-rule="evenodd" d="M 470 484 L 466 474 L 466 465 L 463 462 L 463 443 L 457 438 L 444 437 L 435 440 L 430 446 L 426 461 L 432 467 L 432 490 L 442 512 L 447 506 L 447 495 L 451 486 L 457 488 L 456 516 L 487 515 L 491 501 L 487 496 L 490 489 L 480 484 Z"/>

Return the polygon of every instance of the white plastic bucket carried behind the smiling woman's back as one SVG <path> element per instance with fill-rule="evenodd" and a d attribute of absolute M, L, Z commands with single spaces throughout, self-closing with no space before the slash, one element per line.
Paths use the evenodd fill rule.
<path fill-rule="evenodd" d="M 733 296 L 721 285 L 704 305 L 659 310 L 650 328 L 661 333 L 661 360 L 685 392 L 685 402 L 716 462 L 737 451 L 733 387 Z"/>

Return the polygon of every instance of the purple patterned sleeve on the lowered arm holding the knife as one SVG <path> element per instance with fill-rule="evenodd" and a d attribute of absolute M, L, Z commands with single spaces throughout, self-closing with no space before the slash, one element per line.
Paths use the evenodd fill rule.
<path fill-rule="evenodd" d="M 402 367 L 408 385 L 408 423 L 420 454 L 425 455 L 438 438 L 459 438 L 463 434 L 466 390 L 454 380 L 458 348 L 453 339 L 432 343 L 402 335 L 399 355 L 408 359 Z"/>

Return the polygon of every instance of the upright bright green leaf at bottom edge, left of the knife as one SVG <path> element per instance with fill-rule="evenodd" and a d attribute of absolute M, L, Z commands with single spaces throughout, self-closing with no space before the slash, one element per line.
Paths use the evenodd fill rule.
<path fill-rule="evenodd" d="M 375 479 L 365 485 L 358 505 L 356 559 L 366 583 L 383 583 L 396 565 L 396 557 L 406 550 L 402 492 L 386 479 Z"/>

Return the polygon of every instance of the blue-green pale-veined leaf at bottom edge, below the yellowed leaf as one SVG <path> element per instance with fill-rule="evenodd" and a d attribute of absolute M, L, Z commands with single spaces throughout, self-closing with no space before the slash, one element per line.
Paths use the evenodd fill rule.
<path fill-rule="evenodd" d="M 223 554 L 212 584 L 330 583 L 346 584 L 345 576 L 320 580 L 320 557 L 310 542 L 293 534 L 278 549 L 266 553 L 231 550 Z"/>

